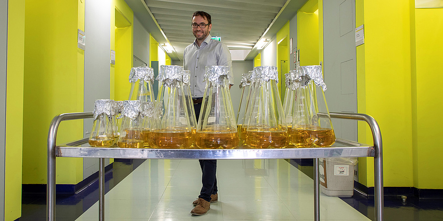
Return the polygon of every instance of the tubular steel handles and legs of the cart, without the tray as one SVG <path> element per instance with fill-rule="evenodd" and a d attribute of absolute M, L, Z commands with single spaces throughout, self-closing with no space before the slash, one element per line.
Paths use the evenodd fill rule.
<path fill-rule="evenodd" d="M 366 121 L 372 131 L 374 141 L 374 189 L 375 189 L 375 220 L 383 221 L 383 155 L 382 155 L 382 135 L 377 121 L 367 114 L 362 113 L 337 113 L 331 112 L 330 116 L 341 119 L 356 119 Z M 48 133 L 48 161 L 47 161 L 47 220 L 55 221 L 55 147 L 58 125 L 61 121 L 71 119 L 92 118 L 92 112 L 79 113 L 63 113 L 52 119 Z M 104 221 L 104 158 L 99 159 L 99 220 Z M 320 221 L 320 188 L 319 188 L 319 172 L 318 158 L 314 158 L 314 220 Z"/>

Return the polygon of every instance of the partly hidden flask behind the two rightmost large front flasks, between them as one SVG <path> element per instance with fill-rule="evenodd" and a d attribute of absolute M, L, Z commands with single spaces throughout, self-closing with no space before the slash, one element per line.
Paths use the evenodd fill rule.
<path fill-rule="evenodd" d="M 289 137 L 291 135 L 292 130 L 292 118 L 295 112 L 295 101 L 297 100 L 297 89 L 298 89 L 298 81 L 295 81 L 295 73 L 296 70 L 291 70 L 289 73 L 285 74 L 286 76 L 286 91 L 283 100 L 283 111 L 284 111 L 284 119 L 286 126 L 288 127 Z M 291 139 L 289 138 L 289 141 Z"/>

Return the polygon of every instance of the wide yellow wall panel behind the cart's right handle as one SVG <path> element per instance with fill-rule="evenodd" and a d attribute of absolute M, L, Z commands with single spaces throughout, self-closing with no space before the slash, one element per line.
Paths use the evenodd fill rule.
<path fill-rule="evenodd" d="M 404 0 L 383 4 L 364 1 L 365 91 L 358 95 L 358 103 L 365 102 L 365 110 L 358 111 L 372 115 L 381 128 L 384 185 L 388 187 L 414 185 L 410 6 L 410 2 Z M 364 101 L 361 101 L 362 96 L 365 96 Z M 359 141 L 372 143 L 370 130 L 360 132 Z M 360 181 L 373 186 L 372 159 L 360 161 L 359 169 L 367 171 L 365 177 L 360 174 Z"/>

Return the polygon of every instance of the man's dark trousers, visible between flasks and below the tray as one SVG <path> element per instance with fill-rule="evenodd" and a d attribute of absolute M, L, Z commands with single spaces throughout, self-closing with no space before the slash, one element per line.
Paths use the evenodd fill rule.
<path fill-rule="evenodd" d="M 200 117 L 200 109 L 202 103 L 194 104 L 194 110 L 196 111 L 197 121 Z M 217 160 L 199 160 L 200 168 L 202 168 L 202 190 L 200 191 L 199 198 L 202 198 L 208 202 L 211 201 L 211 194 L 216 194 L 217 189 Z"/>

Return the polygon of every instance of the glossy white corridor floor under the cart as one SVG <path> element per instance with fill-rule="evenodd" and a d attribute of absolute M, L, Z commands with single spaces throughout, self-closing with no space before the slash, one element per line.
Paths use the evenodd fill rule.
<path fill-rule="evenodd" d="M 285 160 L 218 160 L 219 202 L 193 216 L 202 187 L 198 160 L 146 160 L 105 195 L 108 221 L 312 221 L 313 181 Z M 98 203 L 77 221 L 98 218 Z M 322 221 L 368 221 L 320 194 Z"/>

